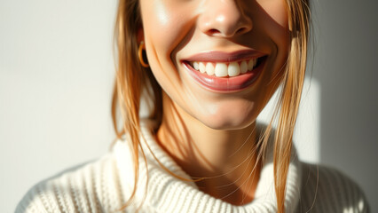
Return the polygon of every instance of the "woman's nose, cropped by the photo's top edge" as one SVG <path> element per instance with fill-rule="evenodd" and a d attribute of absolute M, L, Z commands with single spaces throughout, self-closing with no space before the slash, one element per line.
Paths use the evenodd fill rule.
<path fill-rule="evenodd" d="M 238 0 L 209 0 L 204 6 L 198 25 L 208 36 L 232 37 L 252 29 L 252 20 Z"/>

